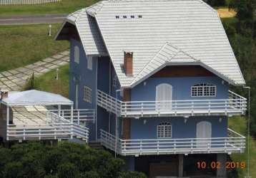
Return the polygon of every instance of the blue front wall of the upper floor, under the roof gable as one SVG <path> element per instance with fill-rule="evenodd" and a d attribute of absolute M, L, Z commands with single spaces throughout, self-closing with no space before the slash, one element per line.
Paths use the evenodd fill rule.
<path fill-rule="evenodd" d="M 146 85 L 144 85 L 144 83 Z M 148 78 L 132 88 L 132 101 L 155 100 L 156 87 L 161 83 L 172 85 L 172 100 L 203 100 L 228 98 L 228 84 L 222 84 L 222 79 L 212 77 L 179 77 L 179 78 Z M 191 86 L 199 83 L 210 83 L 217 86 L 216 97 L 191 97 Z"/>

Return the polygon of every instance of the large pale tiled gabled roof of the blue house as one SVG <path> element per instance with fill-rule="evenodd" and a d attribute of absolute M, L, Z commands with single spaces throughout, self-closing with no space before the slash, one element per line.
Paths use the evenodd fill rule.
<path fill-rule="evenodd" d="M 79 14 L 80 36 L 89 33 L 82 38 L 87 55 L 92 48 L 87 43 L 102 43 L 122 87 L 178 61 L 200 63 L 233 85 L 245 84 L 217 11 L 202 0 L 100 1 Z M 88 20 L 82 20 L 88 16 L 97 26 L 98 43 L 92 39 L 94 28 L 86 28 Z M 124 51 L 133 52 L 133 76 L 122 69 Z"/>

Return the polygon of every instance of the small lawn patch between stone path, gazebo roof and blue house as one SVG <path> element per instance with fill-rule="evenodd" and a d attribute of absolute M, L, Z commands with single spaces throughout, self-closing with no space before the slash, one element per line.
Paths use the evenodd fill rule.
<path fill-rule="evenodd" d="M 69 97 L 69 65 L 59 68 L 59 80 L 55 79 L 56 70 L 41 75 L 34 79 L 34 89 L 44 90 L 51 93 L 58 93 L 65 97 Z M 26 89 L 31 89 L 31 81 L 27 84 Z"/>

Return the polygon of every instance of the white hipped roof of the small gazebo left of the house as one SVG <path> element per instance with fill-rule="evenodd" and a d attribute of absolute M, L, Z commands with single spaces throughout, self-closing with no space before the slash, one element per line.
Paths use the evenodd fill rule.
<path fill-rule="evenodd" d="M 72 100 L 61 95 L 39 90 L 11 92 L 1 100 L 5 105 L 73 105 Z"/>

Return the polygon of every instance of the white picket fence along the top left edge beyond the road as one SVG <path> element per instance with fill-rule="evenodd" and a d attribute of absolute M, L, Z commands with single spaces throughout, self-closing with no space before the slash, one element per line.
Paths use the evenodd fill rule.
<path fill-rule="evenodd" d="M 61 0 L 0 0 L 0 5 L 47 4 Z"/>

